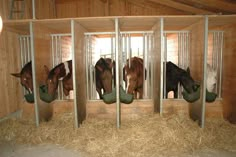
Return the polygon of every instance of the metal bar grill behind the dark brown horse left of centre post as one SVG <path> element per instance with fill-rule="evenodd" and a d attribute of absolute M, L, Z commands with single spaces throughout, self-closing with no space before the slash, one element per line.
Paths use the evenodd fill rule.
<path fill-rule="evenodd" d="M 102 58 L 115 60 L 114 32 L 85 33 L 87 99 L 99 99 L 96 91 L 95 64 Z M 100 37 L 99 37 L 100 36 Z M 104 48 L 104 45 L 106 49 Z M 113 69 L 112 69 L 113 70 Z M 112 73 L 114 73 L 112 71 Z M 113 80 L 114 81 L 114 80 Z M 114 82 L 112 83 L 114 87 Z"/>

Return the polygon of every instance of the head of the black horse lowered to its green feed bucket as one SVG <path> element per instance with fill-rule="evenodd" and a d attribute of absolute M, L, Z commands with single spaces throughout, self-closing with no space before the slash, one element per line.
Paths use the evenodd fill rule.
<path fill-rule="evenodd" d="M 190 75 L 189 67 L 187 68 L 186 71 L 183 70 L 183 72 L 181 73 L 180 84 L 188 93 L 193 93 L 197 91 L 199 85 L 195 83 L 192 76 Z"/>

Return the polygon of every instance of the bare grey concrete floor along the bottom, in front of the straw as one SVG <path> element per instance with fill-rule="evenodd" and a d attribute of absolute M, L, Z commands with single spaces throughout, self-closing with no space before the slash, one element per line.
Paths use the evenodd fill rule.
<path fill-rule="evenodd" d="M 176 156 L 173 154 L 173 156 Z M 236 152 L 219 150 L 201 150 L 194 154 L 182 154 L 178 157 L 236 157 Z M 37 146 L 17 145 L 0 141 L 0 157 L 85 157 L 82 153 L 66 148 L 44 144 Z"/>

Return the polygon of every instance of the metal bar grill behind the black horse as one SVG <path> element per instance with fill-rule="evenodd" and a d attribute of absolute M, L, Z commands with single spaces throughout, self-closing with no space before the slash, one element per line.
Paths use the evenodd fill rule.
<path fill-rule="evenodd" d="M 171 61 L 186 70 L 189 66 L 189 31 L 164 31 L 164 63 Z M 163 97 L 166 98 L 166 65 L 163 66 Z M 183 88 L 178 85 L 178 99 L 182 99 Z M 171 95 L 171 97 L 173 97 Z"/>

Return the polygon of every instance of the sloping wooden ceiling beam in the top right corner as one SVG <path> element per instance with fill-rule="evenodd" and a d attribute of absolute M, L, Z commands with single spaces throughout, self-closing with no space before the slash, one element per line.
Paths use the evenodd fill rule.
<path fill-rule="evenodd" d="M 223 0 L 191 0 L 191 2 L 230 13 L 236 13 L 236 4 Z"/>

